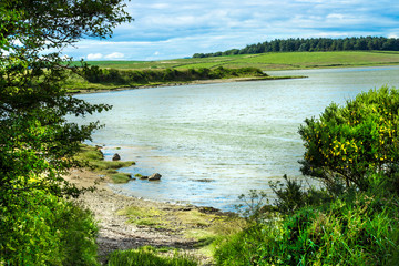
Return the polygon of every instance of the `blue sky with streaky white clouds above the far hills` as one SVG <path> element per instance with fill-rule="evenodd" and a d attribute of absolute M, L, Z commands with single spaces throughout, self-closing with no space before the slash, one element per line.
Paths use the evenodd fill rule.
<path fill-rule="evenodd" d="M 288 38 L 399 38 L 398 0 L 132 0 L 111 39 L 84 39 L 75 60 L 153 61 Z"/>

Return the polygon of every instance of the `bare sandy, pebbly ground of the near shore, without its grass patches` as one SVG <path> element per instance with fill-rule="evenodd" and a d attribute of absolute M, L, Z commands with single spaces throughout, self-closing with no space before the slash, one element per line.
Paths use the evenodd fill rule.
<path fill-rule="evenodd" d="M 197 241 L 185 237 L 183 232 L 137 226 L 126 223 L 129 219 L 127 217 L 116 214 L 117 211 L 129 206 L 149 209 L 157 208 L 162 209 L 162 212 L 167 211 L 171 216 L 174 215 L 174 212 L 200 208 L 145 201 L 116 194 L 108 186 L 108 180 L 88 170 L 73 170 L 65 180 L 76 184 L 78 187 L 95 185 L 98 188 L 94 192 L 84 193 L 76 201 L 84 207 L 91 209 L 98 221 L 100 227 L 98 237 L 99 259 L 102 264 L 106 263 L 108 255 L 113 250 L 150 245 L 155 247 L 183 248 L 200 257 L 201 260 L 204 262 L 204 265 L 208 265 L 209 258 L 201 255 L 194 247 L 195 244 L 197 244 Z M 215 214 L 213 213 L 213 215 Z"/>

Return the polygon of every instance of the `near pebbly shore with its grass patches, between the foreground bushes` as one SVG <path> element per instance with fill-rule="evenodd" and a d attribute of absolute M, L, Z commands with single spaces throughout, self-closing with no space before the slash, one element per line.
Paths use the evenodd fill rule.
<path fill-rule="evenodd" d="M 108 185 L 111 180 L 89 170 L 72 170 L 65 180 L 78 187 L 96 187 L 76 201 L 89 208 L 98 221 L 98 254 L 102 265 L 116 249 L 142 246 L 171 252 L 178 248 L 206 265 L 212 259 L 208 245 L 213 239 L 217 235 L 238 231 L 244 223 L 214 208 L 173 205 L 117 194 Z"/>

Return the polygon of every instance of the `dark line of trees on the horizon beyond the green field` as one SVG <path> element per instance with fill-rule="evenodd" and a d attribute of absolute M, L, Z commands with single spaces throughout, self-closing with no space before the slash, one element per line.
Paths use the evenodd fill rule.
<path fill-rule="evenodd" d="M 320 52 L 320 51 L 399 51 L 399 39 L 385 37 L 352 37 L 345 39 L 311 38 L 273 40 L 215 53 L 195 53 L 193 58 L 211 58 L 265 52 Z"/>

